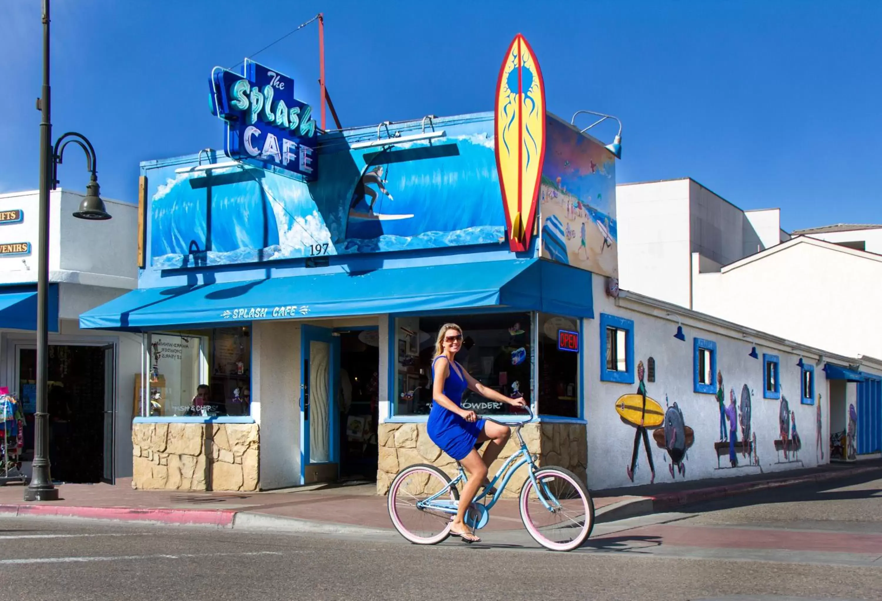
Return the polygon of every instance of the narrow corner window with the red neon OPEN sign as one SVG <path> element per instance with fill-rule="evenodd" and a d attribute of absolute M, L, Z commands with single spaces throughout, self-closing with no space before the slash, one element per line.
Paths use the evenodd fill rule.
<path fill-rule="evenodd" d="M 578 320 L 539 314 L 538 410 L 543 415 L 579 417 Z"/>

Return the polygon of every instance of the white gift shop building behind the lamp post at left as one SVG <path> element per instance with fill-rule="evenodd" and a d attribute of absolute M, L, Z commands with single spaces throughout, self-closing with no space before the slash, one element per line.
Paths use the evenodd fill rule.
<path fill-rule="evenodd" d="M 39 194 L 0 195 L 0 386 L 26 418 L 23 471 L 34 448 Z M 80 330 L 79 315 L 138 285 L 138 208 L 105 199 L 109 221 L 76 219 L 83 196 L 57 189 L 49 210 L 49 412 L 52 477 L 131 476 L 131 417 L 140 337 Z"/>

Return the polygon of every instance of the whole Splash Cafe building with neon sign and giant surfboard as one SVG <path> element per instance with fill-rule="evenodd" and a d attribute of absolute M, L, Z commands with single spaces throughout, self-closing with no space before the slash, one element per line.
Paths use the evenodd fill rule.
<path fill-rule="evenodd" d="M 425 432 L 435 338 L 450 322 L 468 372 L 533 405 L 525 436 L 540 461 L 591 486 L 684 478 L 689 463 L 699 478 L 829 456 L 826 394 L 815 436 L 825 372 L 796 365 L 819 352 L 617 291 L 619 139 L 605 146 L 546 112 L 522 37 L 488 113 L 322 132 L 277 70 L 245 61 L 211 82 L 226 156 L 142 163 L 138 290 L 81 316 L 143 333 L 134 486 L 343 478 L 377 479 L 383 493 L 407 464 L 452 469 Z M 751 345 L 779 360 L 776 400 Z M 732 463 L 729 442 L 716 444 L 728 440 L 720 424 L 729 434 L 716 397 L 725 390 L 728 404 L 735 382 L 748 432 L 736 419 Z M 665 415 L 676 423 L 661 427 Z"/>

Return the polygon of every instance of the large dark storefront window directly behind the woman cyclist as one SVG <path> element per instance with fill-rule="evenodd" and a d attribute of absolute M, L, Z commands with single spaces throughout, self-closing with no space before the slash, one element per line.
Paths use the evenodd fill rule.
<path fill-rule="evenodd" d="M 400 317 L 395 320 L 395 414 L 426 415 L 432 405 L 431 365 L 438 329 L 456 323 L 463 330 L 456 360 L 478 382 L 531 401 L 533 332 L 529 313 Z M 462 406 L 479 414 L 510 413 L 511 405 L 467 390 Z"/>

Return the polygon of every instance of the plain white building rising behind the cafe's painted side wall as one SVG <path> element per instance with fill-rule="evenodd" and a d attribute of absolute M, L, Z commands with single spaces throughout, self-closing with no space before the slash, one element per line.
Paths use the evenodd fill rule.
<path fill-rule="evenodd" d="M 622 289 L 671 303 L 673 317 L 682 315 L 679 306 L 793 341 L 793 349 L 798 343 L 855 358 L 850 375 L 831 380 L 828 394 L 839 407 L 831 415 L 845 419 L 855 404 L 858 424 L 870 428 L 858 453 L 878 451 L 878 384 L 862 383 L 859 372 L 882 357 L 882 256 L 871 252 L 882 250 L 882 226 L 828 226 L 791 237 L 778 209 L 742 211 L 691 179 L 619 185 L 617 211 Z M 744 333 L 758 347 L 763 336 Z M 799 358 L 807 360 L 802 352 Z M 856 401 L 846 403 L 840 384 L 848 378 L 857 383 Z"/>

